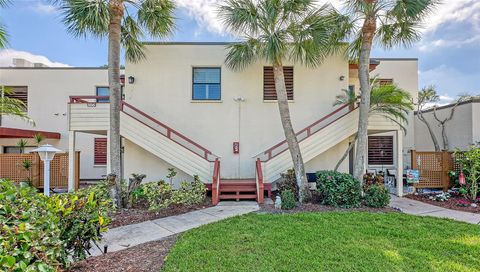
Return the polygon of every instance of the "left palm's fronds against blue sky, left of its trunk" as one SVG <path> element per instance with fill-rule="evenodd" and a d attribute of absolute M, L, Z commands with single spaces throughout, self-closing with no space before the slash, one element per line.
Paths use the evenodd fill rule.
<path fill-rule="evenodd" d="M 59 5 L 63 23 L 72 35 L 105 37 L 108 34 L 110 15 L 105 0 L 59 0 L 55 3 Z"/>

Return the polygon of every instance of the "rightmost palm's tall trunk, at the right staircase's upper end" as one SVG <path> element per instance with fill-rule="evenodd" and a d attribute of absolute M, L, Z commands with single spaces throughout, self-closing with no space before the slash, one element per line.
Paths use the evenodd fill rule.
<path fill-rule="evenodd" d="M 367 16 L 362 27 L 362 46 L 358 60 L 358 78 L 360 79 L 360 106 L 358 118 L 358 139 L 356 160 L 353 167 L 353 176 L 363 183 L 365 172 L 368 141 L 368 113 L 370 111 L 370 52 L 373 38 L 377 30 L 374 15 Z"/>

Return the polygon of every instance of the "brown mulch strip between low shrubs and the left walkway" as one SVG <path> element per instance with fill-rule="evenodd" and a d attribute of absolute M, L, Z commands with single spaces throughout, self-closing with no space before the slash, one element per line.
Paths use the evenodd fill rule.
<path fill-rule="evenodd" d="M 211 206 L 212 206 L 212 200 L 209 197 L 205 198 L 205 201 L 203 203 L 200 203 L 194 206 L 186 207 L 184 205 L 172 205 L 166 209 L 163 209 L 157 212 L 149 211 L 146 205 L 140 203 L 135 207 L 133 207 L 132 209 L 123 209 L 123 210 L 117 211 L 112 216 L 112 221 L 110 222 L 108 227 L 116 228 L 120 226 L 141 223 L 148 220 L 154 220 L 162 217 L 178 215 L 178 214 L 182 214 L 190 211 L 195 211 L 198 209 L 208 208 Z"/>

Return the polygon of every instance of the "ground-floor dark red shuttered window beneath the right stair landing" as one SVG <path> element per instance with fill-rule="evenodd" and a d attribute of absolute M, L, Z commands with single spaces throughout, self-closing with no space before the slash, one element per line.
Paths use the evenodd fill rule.
<path fill-rule="evenodd" d="M 368 164 L 393 165 L 393 136 L 368 137 Z"/>

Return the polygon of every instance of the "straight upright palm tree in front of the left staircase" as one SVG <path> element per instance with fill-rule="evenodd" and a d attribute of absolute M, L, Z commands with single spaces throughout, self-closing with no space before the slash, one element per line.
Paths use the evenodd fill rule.
<path fill-rule="evenodd" d="M 54 0 L 63 11 L 67 30 L 76 37 L 90 34 L 108 37 L 108 83 L 110 89 L 110 165 L 116 177 L 112 198 L 121 207 L 121 138 L 120 138 L 120 50 L 128 60 L 145 57 L 140 39 L 148 34 L 164 38 L 174 29 L 172 0 Z"/>

